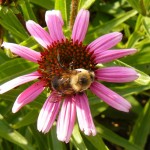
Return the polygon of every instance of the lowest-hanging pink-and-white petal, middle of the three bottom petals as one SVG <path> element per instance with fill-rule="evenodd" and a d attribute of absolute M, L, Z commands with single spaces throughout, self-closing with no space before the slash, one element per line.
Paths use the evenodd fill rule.
<path fill-rule="evenodd" d="M 72 97 L 67 97 L 62 105 L 57 121 L 57 138 L 69 142 L 76 118 L 76 104 Z"/>

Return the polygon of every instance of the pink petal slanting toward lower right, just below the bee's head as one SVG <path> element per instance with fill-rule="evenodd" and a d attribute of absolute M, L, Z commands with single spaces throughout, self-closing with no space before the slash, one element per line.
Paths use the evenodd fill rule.
<path fill-rule="evenodd" d="M 131 104 L 123 97 L 108 89 L 101 83 L 98 83 L 96 81 L 93 82 L 91 84 L 90 90 L 111 107 L 120 111 L 129 112 Z"/>

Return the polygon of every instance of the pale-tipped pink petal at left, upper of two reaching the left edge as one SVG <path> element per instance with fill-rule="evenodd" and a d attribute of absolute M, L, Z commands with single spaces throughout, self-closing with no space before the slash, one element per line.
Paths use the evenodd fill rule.
<path fill-rule="evenodd" d="M 15 53 L 16 55 L 35 63 L 37 63 L 37 60 L 40 60 L 41 58 L 41 54 L 39 52 L 31 50 L 25 46 L 7 42 L 3 42 L 2 46 L 6 49 L 10 49 L 11 52 Z"/>

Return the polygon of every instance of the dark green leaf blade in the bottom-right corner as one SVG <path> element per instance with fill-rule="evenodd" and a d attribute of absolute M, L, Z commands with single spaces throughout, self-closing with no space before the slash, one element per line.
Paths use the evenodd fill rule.
<path fill-rule="evenodd" d="M 143 111 L 133 127 L 133 131 L 130 135 L 130 142 L 138 145 L 144 149 L 147 137 L 150 131 L 150 100 L 146 103 Z"/>

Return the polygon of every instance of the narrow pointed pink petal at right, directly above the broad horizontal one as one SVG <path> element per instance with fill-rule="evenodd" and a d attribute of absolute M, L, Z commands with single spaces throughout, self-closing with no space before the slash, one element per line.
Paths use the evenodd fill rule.
<path fill-rule="evenodd" d="M 134 54 L 136 52 L 136 49 L 107 50 L 100 54 L 97 54 L 94 61 L 95 63 L 107 63 L 112 60 Z"/>

